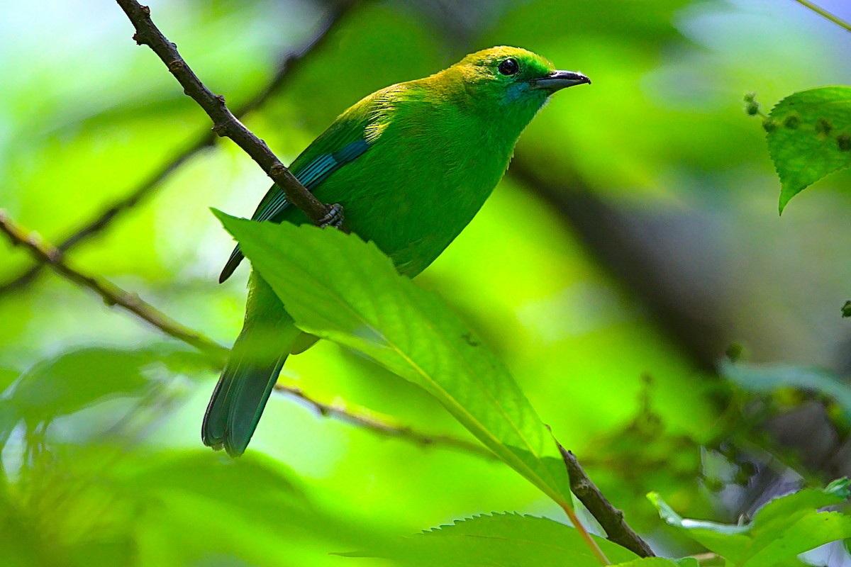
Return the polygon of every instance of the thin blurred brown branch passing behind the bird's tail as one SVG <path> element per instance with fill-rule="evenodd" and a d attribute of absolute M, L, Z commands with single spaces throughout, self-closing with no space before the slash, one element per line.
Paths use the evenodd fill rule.
<path fill-rule="evenodd" d="M 133 315 L 157 327 L 157 329 L 166 333 L 169 337 L 174 337 L 184 343 L 191 344 L 196 349 L 208 354 L 216 370 L 220 370 L 224 366 L 227 353 L 229 352 L 228 349 L 212 339 L 205 337 L 203 334 L 181 325 L 151 305 L 151 303 L 147 303 L 141 299 L 137 294 L 127 292 L 99 276 L 86 274 L 71 268 L 71 266 L 66 264 L 62 251 L 49 242 L 43 241 L 35 233 L 28 233 L 9 218 L 9 215 L 2 209 L 0 209 L 0 232 L 3 232 L 9 238 L 12 246 L 25 247 L 37 262 L 49 266 L 58 275 L 66 278 L 66 280 L 73 281 L 77 286 L 85 287 L 97 293 L 107 305 L 117 305 L 126 309 Z M 346 408 L 337 405 L 324 404 L 305 394 L 300 388 L 276 384 L 275 390 L 305 401 L 323 416 L 335 417 L 341 421 L 353 423 L 377 434 L 397 437 L 417 445 L 444 445 L 461 449 L 477 456 L 495 458 L 493 453 L 488 451 L 483 445 L 472 441 L 457 439 L 448 435 L 423 434 L 407 426 L 382 422 L 372 417 L 346 410 Z"/>

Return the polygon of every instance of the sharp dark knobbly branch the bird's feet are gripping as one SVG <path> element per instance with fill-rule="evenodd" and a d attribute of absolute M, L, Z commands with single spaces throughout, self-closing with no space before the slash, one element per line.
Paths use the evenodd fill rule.
<path fill-rule="evenodd" d="M 163 60 L 168 71 L 180 82 L 184 93 L 188 94 L 213 121 L 213 132 L 232 139 L 248 156 L 254 159 L 263 171 L 280 187 L 287 200 L 304 211 L 308 218 L 321 224 L 328 214 L 328 207 L 317 201 L 306 190 L 293 173 L 277 159 L 266 142 L 254 135 L 225 104 L 225 97 L 213 94 L 195 75 L 186 61 L 180 57 L 174 43 L 168 41 L 151 21 L 151 9 L 135 0 L 116 0 L 136 28 L 134 40 L 139 45 L 147 45 Z"/>

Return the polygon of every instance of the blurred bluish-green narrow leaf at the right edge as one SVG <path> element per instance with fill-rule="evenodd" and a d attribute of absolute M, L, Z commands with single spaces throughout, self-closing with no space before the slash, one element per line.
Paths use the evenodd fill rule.
<path fill-rule="evenodd" d="M 748 364 L 723 361 L 721 375 L 750 392 L 774 392 L 778 388 L 799 388 L 831 397 L 851 422 L 851 389 L 831 371 L 808 366 Z"/>

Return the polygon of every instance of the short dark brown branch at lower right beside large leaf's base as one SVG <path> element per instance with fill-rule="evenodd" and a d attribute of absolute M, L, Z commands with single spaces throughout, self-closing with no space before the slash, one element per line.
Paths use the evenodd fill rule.
<path fill-rule="evenodd" d="M 558 451 L 561 451 L 564 464 L 568 467 L 570 476 L 570 490 L 579 498 L 580 502 L 588 508 L 588 511 L 597 519 L 597 522 L 606 530 L 606 535 L 609 541 L 620 546 L 626 547 L 633 553 L 637 553 L 641 557 L 655 557 L 655 553 L 648 546 L 647 541 L 644 541 L 624 520 L 624 513 L 618 508 L 612 506 L 606 496 L 600 492 L 585 470 L 580 466 L 576 456 L 565 449 L 560 443 Z"/>

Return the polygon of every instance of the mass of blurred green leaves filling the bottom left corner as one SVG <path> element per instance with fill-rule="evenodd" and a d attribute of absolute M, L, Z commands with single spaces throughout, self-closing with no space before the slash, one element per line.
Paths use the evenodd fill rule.
<path fill-rule="evenodd" d="M 16 381 L 3 371 L 3 564 L 208 564 L 240 557 L 283 566 L 311 563 L 300 557 L 330 534 L 338 546 L 373 541 L 368 530 L 326 515 L 273 459 L 233 461 L 212 451 L 138 445 L 140 432 L 168 412 L 169 399 L 185 398 L 176 377 L 192 377 L 205 364 L 198 354 L 163 345 L 92 347 L 45 360 Z M 10 437 L 17 423 L 23 434 Z M 54 423 L 60 431 L 51 434 Z M 300 547 L 278 553 L 293 541 Z"/>

